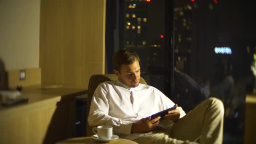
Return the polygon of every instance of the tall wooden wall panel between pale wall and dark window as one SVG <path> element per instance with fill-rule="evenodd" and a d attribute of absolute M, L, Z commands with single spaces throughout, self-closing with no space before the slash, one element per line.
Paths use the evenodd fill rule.
<path fill-rule="evenodd" d="M 88 88 L 104 74 L 106 0 L 42 0 L 42 85 Z"/>

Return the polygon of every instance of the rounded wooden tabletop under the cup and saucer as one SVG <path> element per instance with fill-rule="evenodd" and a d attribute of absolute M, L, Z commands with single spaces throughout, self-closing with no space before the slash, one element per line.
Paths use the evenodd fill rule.
<path fill-rule="evenodd" d="M 88 136 L 88 137 L 66 139 L 64 141 L 59 141 L 56 144 L 138 144 L 138 143 L 128 139 L 120 139 L 120 138 L 114 141 L 104 142 L 104 141 L 98 141 Z"/>

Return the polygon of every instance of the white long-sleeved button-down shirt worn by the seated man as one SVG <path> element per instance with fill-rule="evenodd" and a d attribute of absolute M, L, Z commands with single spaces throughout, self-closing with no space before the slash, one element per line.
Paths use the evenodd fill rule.
<path fill-rule="evenodd" d="M 173 105 L 173 101 L 152 86 L 140 83 L 130 88 L 119 80 L 107 81 L 101 83 L 93 94 L 88 123 L 90 126 L 112 125 L 114 133 L 136 139 L 147 133 L 131 134 L 133 123 Z M 180 117 L 186 115 L 181 107 L 177 109 Z"/>

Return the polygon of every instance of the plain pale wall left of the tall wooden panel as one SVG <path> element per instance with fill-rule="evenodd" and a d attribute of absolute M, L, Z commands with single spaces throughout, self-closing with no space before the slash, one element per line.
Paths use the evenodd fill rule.
<path fill-rule="evenodd" d="M 5 69 L 39 67 L 40 0 L 0 0 L 0 61 Z"/>

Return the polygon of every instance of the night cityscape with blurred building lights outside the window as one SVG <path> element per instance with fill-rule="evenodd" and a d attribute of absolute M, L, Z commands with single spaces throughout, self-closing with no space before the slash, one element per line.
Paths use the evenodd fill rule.
<path fill-rule="evenodd" d="M 224 144 L 242 144 L 245 95 L 252 92 L 254 82 L 253 5 L 233 0 L 121 0 L 116 8 L 115 41 L 119 48 L 139 54 L 141 76 L 148 84 L 164 91 L 186 112 L 210 96 L 221 99 L 225 107 Z M 167 11 L 173 15 L 167 17 Z M 169 35 L 167 27 L 173 30 Z M 166 37 L 171 37 L 168 40 L 173 45 L 166 45 Z M 166 57 L 172 57 L 171 61 L 166 63 Z M 172 71 L 170 80 L 166 72 Z M 196 93 L 184 75 L 208 93 Z M 170 93 L 166 92 L 166 81 L 173 81 Z"/>

